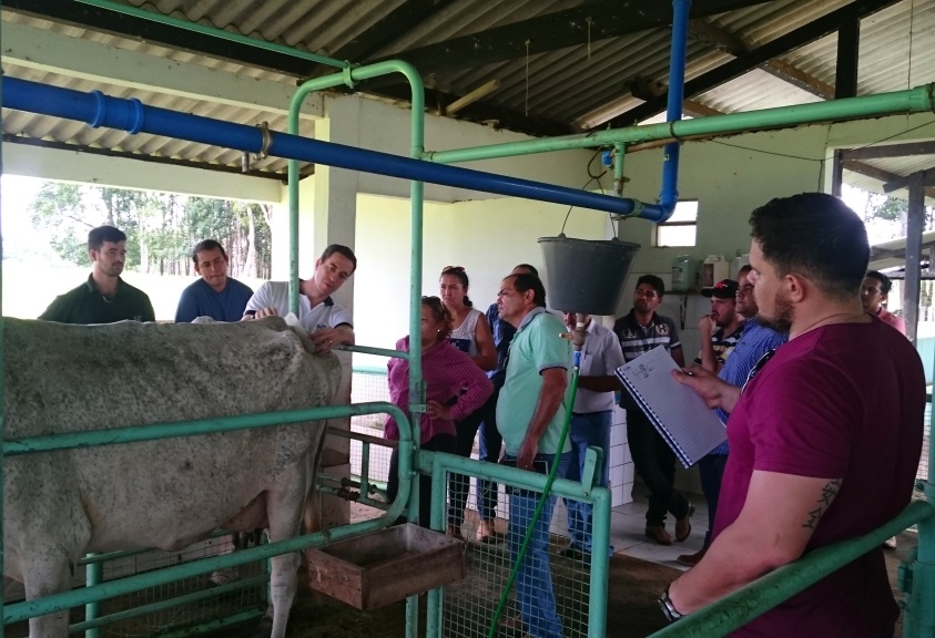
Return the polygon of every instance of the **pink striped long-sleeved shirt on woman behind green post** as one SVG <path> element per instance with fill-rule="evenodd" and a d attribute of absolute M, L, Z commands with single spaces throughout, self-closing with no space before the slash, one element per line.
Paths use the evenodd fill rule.
<path fill-rule="evenodd" d="M 408 352 L 409 338 L 404 337 L 397 341 L 396 349 Z M 386 367 L 389 400 L 404 412 L 408 412 L 409 362 L 405 359 L 390 359 Z M 494 384 L 487 374 L 470 357 L 447 340 L 428 352 L 423 352 L 423 380 L 426 384 L 426 402 L 438 401 L 450 405 L 451 419 L 437 419 L 427 412 L 423 413 L 419 418 L 420 444 L 437 434 L 455 435 L 455 421 L 476 411 L 494 393 Z M 399 440 L 399 426 L 392 416 L 386 421 L 383 435 L 390 441 Z"/>

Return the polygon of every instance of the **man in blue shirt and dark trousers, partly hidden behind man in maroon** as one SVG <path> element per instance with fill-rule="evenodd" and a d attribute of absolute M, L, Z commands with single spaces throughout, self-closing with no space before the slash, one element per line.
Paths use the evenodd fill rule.
<path fill-rule="evenodd" d="M 764 354 L 774 352 L 776 348 L 785 343 L 789 339 L 786 333 L 776 332 L 772 328 L 756 321 L 755 317 L 760 309 L 756 306 L 756 300 L 753 298 L 753 285 L 748 279 L 750 270 L 750 266 L 743 266 L 736 276 L 734 310 L 739 317 L 745 317 L 736 330 L 741 333 L 740 341 L 733 346 L 730 357 L 724 360 L 723 366 L 718 372 L 720 379 L 738 388 L 743 387 L 751 370 L 755 368 Z M 715 412 L 721 421 L 724 423 L 728 422 L 729 414 L 720 408 Z M 698 562 L 701 560 L 704 553 L 708 552 L 708 546 L 711 544 L 711 532 L 718 514 L 718 496 L 721 493 L 721 480 L 724 476 L 724 467 L 728 464 L 729 453 L 730 445 L 724 442 L 698 463 L 698 471 L 701 476 L 701 491 L 704 494 L 704 501 L 708 503 L 708 531 L 704 533 L 704 545 L 701 546 L 700 550 L 694 554 L 682 554 L 677 558 L 682 565 L 688 565 L 689 567 L 698 565 Z"/>

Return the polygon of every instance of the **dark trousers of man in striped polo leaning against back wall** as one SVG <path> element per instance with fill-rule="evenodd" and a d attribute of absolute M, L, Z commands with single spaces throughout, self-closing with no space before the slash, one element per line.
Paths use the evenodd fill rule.
<path fill-rule="evenodd" d="M 640 410 L 627 410 L 627 440 L 633 465 L 649 487 L 647 525 L 664 525 L 667 512 L 675 518 L 684 518 L 689 502 L 673 487 L 675 453 Z"/>

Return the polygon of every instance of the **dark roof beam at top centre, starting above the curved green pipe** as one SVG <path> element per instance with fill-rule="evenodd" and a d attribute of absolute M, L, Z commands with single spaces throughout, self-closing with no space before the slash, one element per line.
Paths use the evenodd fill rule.
<path fill-rule="evenodd" d="M 714 16 L 764 1 L 695 0 L 691 12 L 694 18 Z M 637 11 L 628 2 L 594 0 L 565 11 L 400 51 L 393 58 L 411 63 L 423 76 L 428 76 L 663 28 L 671 22 L 671 2 L 640 2 Z"/>

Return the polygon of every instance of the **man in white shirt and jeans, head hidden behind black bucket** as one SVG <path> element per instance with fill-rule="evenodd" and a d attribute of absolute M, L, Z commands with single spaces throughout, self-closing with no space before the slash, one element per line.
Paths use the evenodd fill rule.
<path fill-rule="evenodd" d="M 575 312 L 565 312 L 565 323 L 575 330 Z M 600 465 L 596 469 L 597 485 L 607 487 L 608 454 L 610 454 L 610 424 L 613 410 L 613 393 L 620 390 L 614 370 L 626 363 L 620 339 L 612 330 L 604 328 L 585 315 L 585 344 L 581 347 L 581 363 L 578 375 L 578 391 L 571 411 L 571 463 L 566 478 L 580 481 L 585 471 L 585 454 L 593 445 L 603 451 Z M 592 505 L 582 501 L 566 498 L 568 508 L 568 547 L 561 550 L 566 558 L 582 559 L 591 553 Z M 603 550 L 602 548 L 600 549 Z"/>

